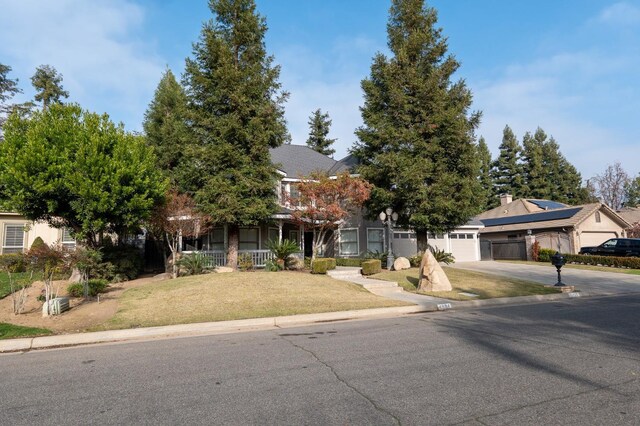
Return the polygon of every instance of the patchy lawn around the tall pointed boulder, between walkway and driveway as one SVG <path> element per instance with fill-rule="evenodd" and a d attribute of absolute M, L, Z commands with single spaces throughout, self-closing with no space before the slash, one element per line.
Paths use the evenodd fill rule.
<path fill-rule="evenodd" d="M 373 275 L 372 278 L 395 281 L 406 291 L 412 293 L 426 294 L 451 300 L 493 299 L 496 297 L 531 296 L 560 292 L 557 288 L 545 287 L 531 281 L 516 278 L 506 278 L 499 275 L 447 267 L 443 267 L 442 269 L 445 274 L 447 274 L 453 291 L 418 292 L 418 268 L 411 268 L 404 271 L 385 271 Z M 465 296 L 459 293 L 473 293 L 477 294 L 478 297 Z"/>

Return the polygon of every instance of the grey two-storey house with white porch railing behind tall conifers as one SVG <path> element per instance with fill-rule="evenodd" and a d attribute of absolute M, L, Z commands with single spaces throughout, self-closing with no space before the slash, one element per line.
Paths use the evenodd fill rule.
<path fill-rule="evenodd" d="M 352 156 L 338 161 L 306 145 L 282 145 L 271 149 L 270 155 L 280 175 L 277 186 L 279 211 L 263 223 L 240 228 L 239 235 L 239 255 L 250 255 L 256 266 L 263 266 L 271 258 L 268 249 L 270 240 L 296 241 L 300 247 L 298 255 L 311 256 L 313 231 L 295 223 L 291 215 L 291 209 L 295 206 L 291 206 L 289 202 L 296 198 L 296 183 L 316 171 L 335 176 L 340 172 L 352 170 L 355 166 Z M 471 221 L 455 232 L 434 235 L 430 244 L 453 253 L 457 261 L 479 260 L 478 232 L 482 227 L 481 222 Z M 381 220 L 369 220 L 363 211 L 359 211 L 327 236 L 320 248 L 320 255 L 364 257 L 367 254 L 382 254 L 387 252 L 389 238 L 389 230 Z M 394 228 L 391 239 L 396 257 L 413 256 L 418 251 L 416 235 L 410 230 Z M 200 238 L 184 239 L 181 247 L 185 253 L 200 251 L 208 256 L 212 263 L 224 265 L 228 247 L 227 229 L 220 226 Z"/>

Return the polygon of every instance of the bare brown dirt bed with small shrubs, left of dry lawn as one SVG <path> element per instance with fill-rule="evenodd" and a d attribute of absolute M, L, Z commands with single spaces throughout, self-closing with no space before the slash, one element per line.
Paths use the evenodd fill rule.
<path fill-rule="evenodd" d="M 100 295 L 100 299 L 72 297 L 69 300 L 71 309 L 51 317 L 42 316 L 42 302 L 37 300 L 43 291 L 41 282 L 34 283 L 27 291 L 27 304 L 22 314 L 14 315 L 11 307 L 11 296 L 0 299 L 0 322 L 8 322 L 27 327 L 47 328 L 58 334 L 76 333 L 100 325 L 113 317 L 118 310 L 118 299 L 122 293 L 130 288 L 138 287 L 150 282 L 161 281 L 160 277 L 145 277 L 137 280 L 125 281 L 109 285 L 108 291 Z M 58 288 L 59 296 L 66 296 L 68 282 L 56 281 L 54 289 Z"/>

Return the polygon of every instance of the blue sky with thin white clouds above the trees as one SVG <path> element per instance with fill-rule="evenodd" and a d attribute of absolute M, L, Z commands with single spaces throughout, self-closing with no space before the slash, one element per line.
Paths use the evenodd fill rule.
<path fill-rule="evenodd" d="M 286 116 L 303 144 L 311 111 L 333 119 L 336 157 L 361 124 L 360 81 L 386 52 L 388 0 L 257 0 L 266 43 L 291 96 Z M 640 171 L 640 1 L 433 0 L 457 77 L 483 112 L 478 134 L 493 155 L 502 129 L 521 139 L 542 127 L 589 178 L 620 161 Z M 22 98 L 35 67 L 64 75 L 70 101 L 141 130 L 166 66 L 180 75 L 205 0 L 0 0 L 0 62 L 13 67 Z"/>

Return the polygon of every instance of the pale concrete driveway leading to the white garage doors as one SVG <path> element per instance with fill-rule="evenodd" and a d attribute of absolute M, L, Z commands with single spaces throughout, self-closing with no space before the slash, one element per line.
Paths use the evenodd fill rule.
<path fill-rule="evenodd" d="M 558 280 L 556 268 L 545 264 L 524 265 L 508 262 L 481 261 L 460 262 L 449 266 L 496 275 L 506 275 L 536 281 L 542 284 L 555 284 Z M 567 285 L 574 285 L 576 289 L 591 294 L 618 295 L 640 293 L 640 275 L 598 272 L 565 267 L 562 268 L 562 282 Z"/>

